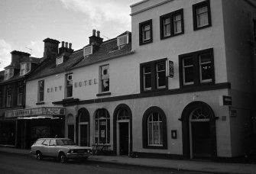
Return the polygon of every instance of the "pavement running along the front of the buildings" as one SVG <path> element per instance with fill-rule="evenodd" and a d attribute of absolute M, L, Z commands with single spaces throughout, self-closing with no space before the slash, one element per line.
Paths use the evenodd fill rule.
<path fill-rule="evenodd" d="M 0 147 L 0 152 L 31 155 L 30 150 L 21 150 L 10 147 Z M 175 160 L 153 158 L 131 158 L 128 156 L 89 156 L 89 161 L 99 163 L 118 163 L 131 166 L 146 166 L 176 171 L 210 172 L 222 174 L 256 174 L 254 163 L 215 163 L 198 160 Z"/>

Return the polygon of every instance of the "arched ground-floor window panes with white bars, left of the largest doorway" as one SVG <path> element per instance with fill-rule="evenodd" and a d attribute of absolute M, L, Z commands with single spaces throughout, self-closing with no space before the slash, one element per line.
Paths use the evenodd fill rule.
<path fill-rule="evenodd" d="M 163 146 L 163 121 L 158 112 L 151 112 L 147 118 L 148 146 Z"/>

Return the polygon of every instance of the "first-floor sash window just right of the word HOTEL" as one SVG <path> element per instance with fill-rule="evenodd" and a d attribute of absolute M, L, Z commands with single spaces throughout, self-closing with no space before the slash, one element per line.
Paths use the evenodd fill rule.
<path fill-rule="evenodd" d="M 100 92 L 109 92 L 109 65 L 100 66 Z"/>

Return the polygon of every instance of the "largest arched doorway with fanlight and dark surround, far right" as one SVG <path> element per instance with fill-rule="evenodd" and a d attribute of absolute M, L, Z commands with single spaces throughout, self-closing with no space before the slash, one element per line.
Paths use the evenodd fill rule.
<path fill-rule="evenodd" d="M 183 156 L 189 159 L 215 159 L 216 132 L 212 108 L 202 101 L 186 106 L 182 114 Z"/>

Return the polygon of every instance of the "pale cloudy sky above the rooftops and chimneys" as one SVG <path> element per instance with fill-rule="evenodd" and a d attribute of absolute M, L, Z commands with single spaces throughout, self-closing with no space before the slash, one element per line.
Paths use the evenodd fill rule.
<path fill-rule="evenodd" d="M 131 31 L 130 5 L 141 0 L 0 0 L 0 71 L 11 63 L 11 51 L 41 58 L 44 42 L 89 44 L 92 29 L 104 40 Z M 59 45 L 60 47 L 60 45 Z"/>

